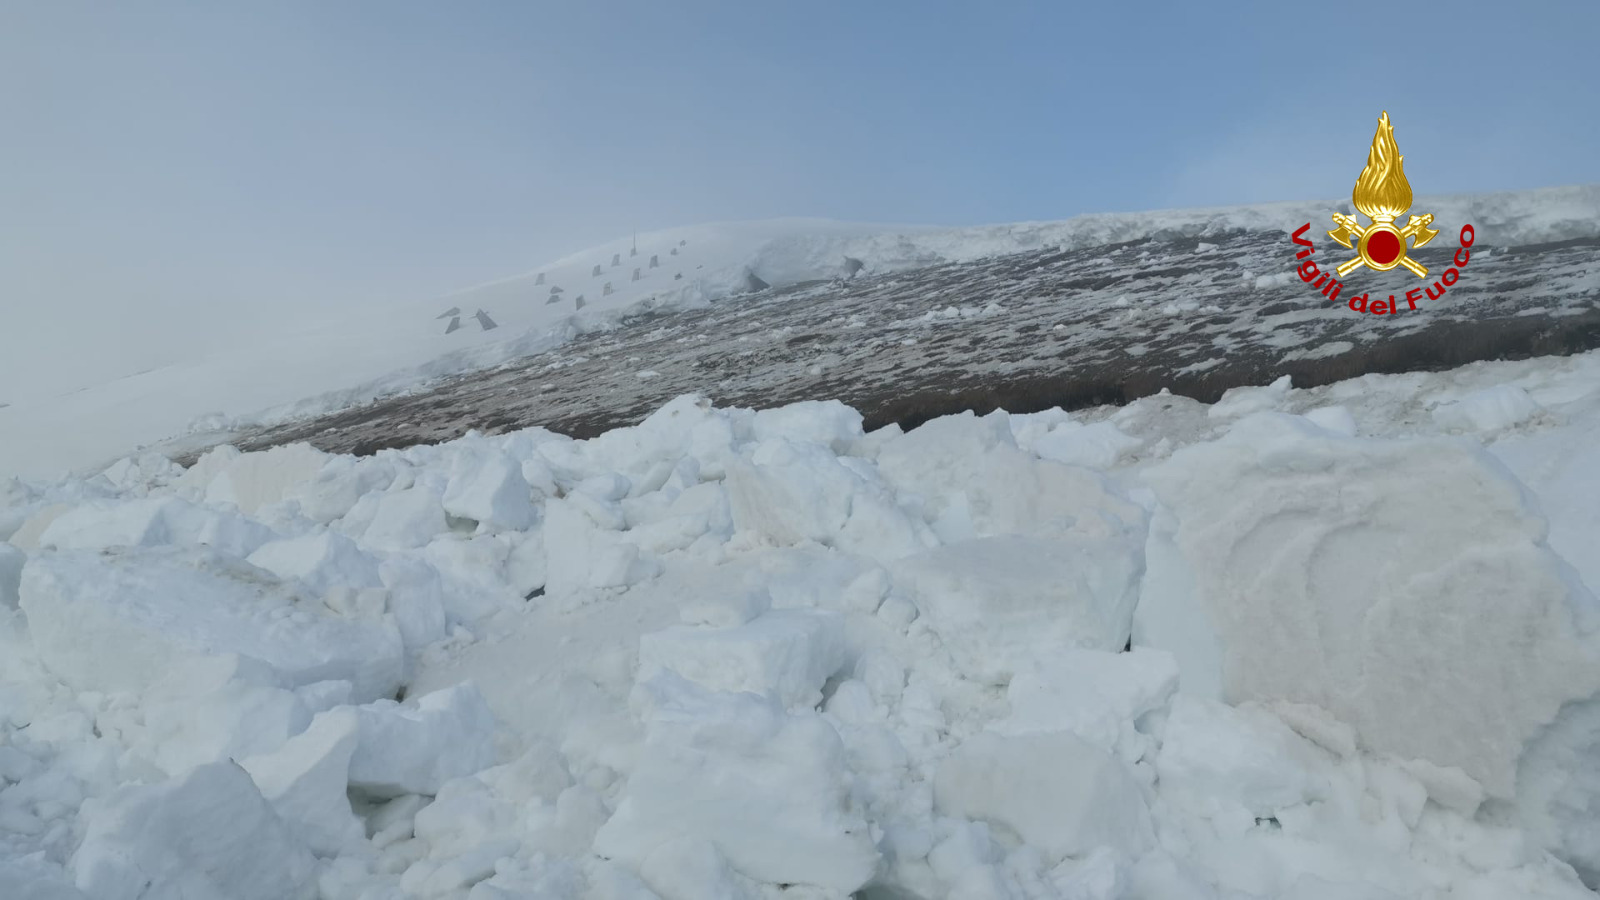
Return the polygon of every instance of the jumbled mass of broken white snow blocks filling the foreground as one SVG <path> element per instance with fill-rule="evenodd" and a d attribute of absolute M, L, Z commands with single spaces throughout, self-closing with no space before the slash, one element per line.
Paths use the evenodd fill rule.
<path fill-rule="evenodd" d="M 1592 897 L 1597 437 L 1589 354 L 13 480 L 0 897 Z"/>

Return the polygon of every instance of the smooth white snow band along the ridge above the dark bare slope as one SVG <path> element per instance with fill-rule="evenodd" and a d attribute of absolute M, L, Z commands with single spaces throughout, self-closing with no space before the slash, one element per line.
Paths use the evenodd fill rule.
<path fill-rule="evenodd" d="M 216 335 L 197 343 L 189 359 L 67 394 L 53 391 L 48 378 L 0 386 L 0 476 L 93 468 L 190 429 L 227 432 L 347 408 L 557 348 L 574 335 L 614 325 L 629 311 L 694 307 L 730 296 L 747 288 L 747 274 L 782 287 L 830 279 L 850 258 L 862 261 L 867 274 L 885 274 L 1045 248 L 1232 231 L 1280 234 L 1306 221 L 1320 226 L 1336 208 L 1347 211 L 1347 203 L 1115 213 L 966 229 L 779 219 L 642 234 L 637 256 L 630 255 L 632 239 L 621 239 L 448 298 L 355 309 L 325 322 L 285 322 L 278 331 Z M 1432 211 L 1442 224 L 1477 224 L 1490 247 L 1600 234 L 1597 186 L 1429 197 L 1418 199 L 1414 208 Z M 659 263 L 654 269 L 651 256 Z M 594 275 L 595 266 L 600 275 Z M 606 283 L 613 290 L 608 296 Z M 560 299 L 550 304 L 557 287 Z M 462 327 L 445 335 L 450 319 L 438 314 L 451 307 L 461 309 Z M 483 331 L 472 319 L 478 309 L 498 328 Z M 70 357 L 70 351 L 62 346 L 61 356 Z"/>

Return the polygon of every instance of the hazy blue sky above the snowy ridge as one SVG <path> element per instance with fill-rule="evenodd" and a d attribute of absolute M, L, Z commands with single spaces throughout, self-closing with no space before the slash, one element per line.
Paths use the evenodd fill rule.
<path fill-rule="evenodd" d="M 1600 3 L 0 0 L 24 330 L 434 295 L 626 234 L 1600 179 Z M 0 328 L 3 330 L 3 328 Z"/>

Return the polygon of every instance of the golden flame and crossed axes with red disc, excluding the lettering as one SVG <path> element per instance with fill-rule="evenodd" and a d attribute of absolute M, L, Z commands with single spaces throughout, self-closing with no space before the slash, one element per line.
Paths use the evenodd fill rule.
<path fill-rule="evenodd" d="M 1378 119 L 1373 147 L 1366 151 L 1366 168 L 1355 179 L 1350 202 L 1373 224 L 1362 226 L 1354 216 L 1333 215 L 1333 224 L 1339 227 L 1330 231 L 1328 237 L 1357 253 L 1355 259 L 1339 264 L 1341 279 L 1358 266 L 1379 272 L 1405 266 L 1416 277 L 1427 277 L 1427 267 L 1406 256 L 1406 239 L 1414 239 L 1413 247 L 1422 247 L 1438 232 L 1427 227 L 1434 223 L 1430 213 L 1411 216 L 1405 227 L 1395 227 L 1395 219 L 1411 208 L 1411 183 L 1405 179 L 1405 157 L 1395 144 L 1395 127 L 1389 123 L 1387 110 Z"/>

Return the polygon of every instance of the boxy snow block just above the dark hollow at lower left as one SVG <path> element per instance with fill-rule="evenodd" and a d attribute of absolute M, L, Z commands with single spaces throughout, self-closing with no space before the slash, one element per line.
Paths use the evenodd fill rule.
<path fill-rule="evenodd" d="M 350 757 L 350 786 L 378 798 L 437 794 L 462 775 L 494 764 L 494 713 L 472 682 L 395 703 L 355 709 L 360 740 Z M 326 714 L 338 713 L 338 709 Z"/>

